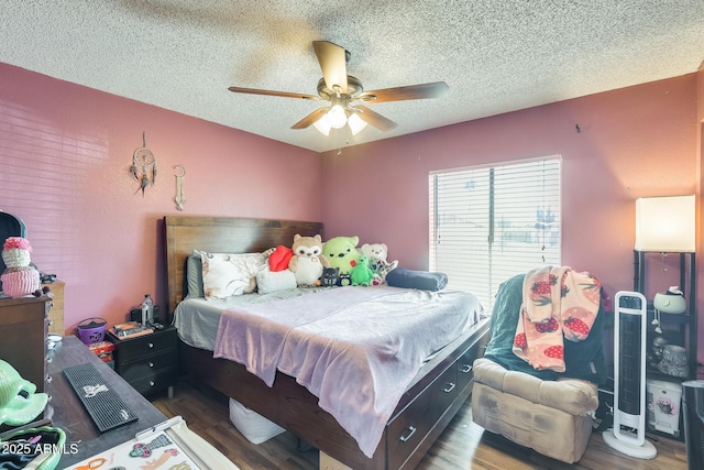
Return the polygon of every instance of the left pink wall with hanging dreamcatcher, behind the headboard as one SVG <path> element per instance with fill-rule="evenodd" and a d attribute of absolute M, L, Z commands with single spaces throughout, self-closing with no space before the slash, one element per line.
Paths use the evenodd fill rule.
<path fill-rule="evenodd" d="M 143 131 L 158 167 L 144 197 L 128 172 Z M 7 64 L 0 164 L 0 210 L 24 220 L 32 261 L 66 283 L 68 334 L 92 316 L 123 321 L 147 292 L 166 305 L 166 215 L 321 219 L 315 152 Z"/>

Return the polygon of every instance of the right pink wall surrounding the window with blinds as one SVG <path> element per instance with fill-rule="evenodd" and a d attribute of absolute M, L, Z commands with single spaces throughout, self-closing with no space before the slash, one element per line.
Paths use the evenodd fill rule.
<path fill-rule="evenodd" d="M 427 269 L 430 171 L 560 154 L 563 264 L 612 295 L 632 289 L 635 199 L 698 194 L 696 83 L 691 74 L 326 153 L 326 236 L 384 241 L 400 265 Z M 653 288 L 679 284 L 660 267 Z"/>

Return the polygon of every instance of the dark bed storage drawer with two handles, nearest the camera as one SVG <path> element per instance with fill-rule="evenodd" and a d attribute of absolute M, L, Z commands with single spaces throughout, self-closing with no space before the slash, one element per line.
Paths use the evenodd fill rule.
<path fill-rule="evenodd" d="M 453 363 L 387 425 L 389 469 L 402 468 L 457 396 Z"/>

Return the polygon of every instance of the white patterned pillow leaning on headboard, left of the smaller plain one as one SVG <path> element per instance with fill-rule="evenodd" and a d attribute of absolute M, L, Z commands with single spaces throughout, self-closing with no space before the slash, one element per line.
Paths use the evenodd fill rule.
<path fill-rule="evenodd" d="M 256 273 L 266 264 L 262 253 L 200 253 L 206 299 L 254 292 Z"/>

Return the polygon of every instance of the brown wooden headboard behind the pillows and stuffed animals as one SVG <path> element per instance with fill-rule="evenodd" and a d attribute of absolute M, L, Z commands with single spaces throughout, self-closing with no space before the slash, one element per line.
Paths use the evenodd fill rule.
<path fill-rule="evenodd" d="M 290 247 L 296 233 L 322 237 L 322 223 L 295 220 L 228 217 L 164 217 L 168 313 L 184 299 L 186 260 L 196 250 L 211 253 L 255 253 L 283 244 Z"/>

